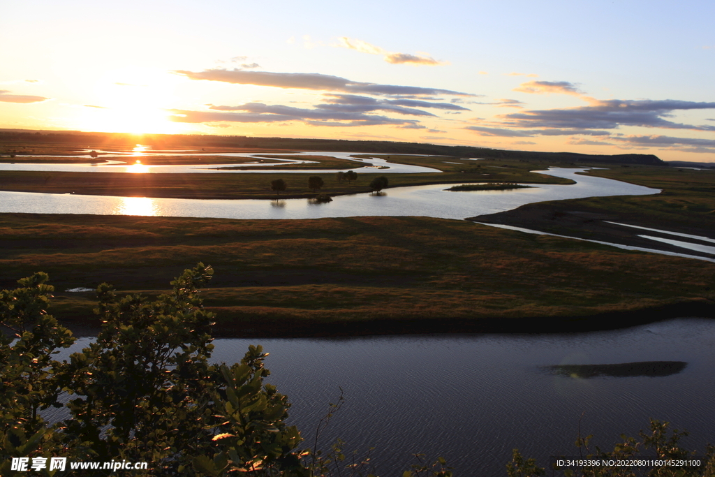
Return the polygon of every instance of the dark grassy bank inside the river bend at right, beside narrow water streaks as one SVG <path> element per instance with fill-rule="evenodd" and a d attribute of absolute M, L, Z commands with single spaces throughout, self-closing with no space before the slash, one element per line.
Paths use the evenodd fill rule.
<path fill-rule="evenodd" d="M 588 174 L 654 187 L 662 192 L 656 195 L 539 202 L 498 214 L 471 217 L 470 220 L 525 227 L 589 240 L 707 255 L 657 244 L 636 235 L 661 234 L 608 222 L 715 238 L 715 172 L 666 167 L 614 167 L 591 169 Z M 711 243 L 704 242 L 703 245 Z"/>

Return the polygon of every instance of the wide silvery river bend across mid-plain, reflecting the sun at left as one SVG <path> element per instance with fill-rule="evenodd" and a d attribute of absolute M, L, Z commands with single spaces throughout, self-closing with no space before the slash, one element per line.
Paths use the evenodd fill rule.
<path fill-rule="evenodd" d="M 383 195 L 340 195 L 333 197 L 330 203 L 319 205 L 305 199 L 189 200 L 0 192 L 0 212 L 229 219 L 317 219 L 367 215 L 463 219 L 516 209 L 531 202 L 611 195 L 650 195 L 660 192 L 626 182 L 576 174 L 583 170 L 551 168 L 541 171 L 544 174 L 575 180 L 577 183 L 574 185 L 538 185 L 529 189 L 483 192 L 445 191 L 450 185 L 398 187 L 385 190 Z M 290 187 L 290 178 L 287 182 Z"/>

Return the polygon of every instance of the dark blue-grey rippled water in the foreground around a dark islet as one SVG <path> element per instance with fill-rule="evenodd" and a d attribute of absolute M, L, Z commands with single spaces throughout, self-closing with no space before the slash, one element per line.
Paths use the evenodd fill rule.
<path fill-rule="evenodd" d="M 306 446 L 342 388 L 345 405 L 322 447 L 336 437 L 351 450 L 375 447 L 384 476 L 401 475 L 417 452 L 444 456 L 459 476 L 505 476 L 513 448 L 547 466 L 550 455 L 578 454 L 582 414 L 582 433 L 601 448 L 620 433 L 637 436 L 651 417 L 691 431 L 688 448 L 715 443 L 715 320 L 568 335 L 220 339 L 212 359 L 235 363 L 251 344 L 270 353 L 268 381 L 293 403 L 290 423 Z M 663 360 L 687 365 L 660 377 L 588 379 L 543 368 Z"/>

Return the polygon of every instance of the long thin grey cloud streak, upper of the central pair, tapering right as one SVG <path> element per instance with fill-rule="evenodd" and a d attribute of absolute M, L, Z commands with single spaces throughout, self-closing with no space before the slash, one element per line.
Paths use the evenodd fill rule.
<path fill-rule="evenodd" d="M 354 82 L 350 81 L 350 79 L 320 73 L 247 72 L 242 69 L 208 69 L 203 72 L 189 72 L 179 69 L 175 70 L 173 73 L 195 80 L 217 81 L 232 84 L 254 84 L 256 86 L 275 88 L 312 89 L 317 91 L 322 90 L 355 94 L 375 94 L 382 96 L 394 96 L 400 94 L 415 96 L 434 94 L 473 96 L 473 94 L 450 91 L 449 89 Z"/>

